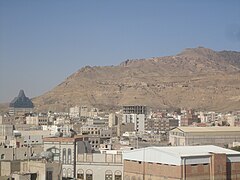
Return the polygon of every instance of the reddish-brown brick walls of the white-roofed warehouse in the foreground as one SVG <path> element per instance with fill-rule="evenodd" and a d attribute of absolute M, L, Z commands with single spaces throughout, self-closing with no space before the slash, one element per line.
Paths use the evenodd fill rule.
<path fill-rule="evenodd" d="M 226 154 L 213 154 L 210 164 L 196 164 L 173 166 L 158 163 L 145 163 L 138 161 L 124 161 L 124 177 L 131 180 L 145 179 L 162 180 L 165 177 L 171 180 L 186 178 L 188 180 L 240 180 L 240 162 L 227 163 Z"/>

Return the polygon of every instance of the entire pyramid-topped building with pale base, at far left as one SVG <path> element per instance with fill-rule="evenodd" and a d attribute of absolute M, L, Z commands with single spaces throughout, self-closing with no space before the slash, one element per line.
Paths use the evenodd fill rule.
<path fill-rule="evenodd" d="M 15 97 L 9 105 L 9 114 L 11 116 L 21 116 L 25 113 L 32 112 L 33 108 L 34 105 L 32 101 L 25 96 L 23 90 L 20 90 L 18 96 Z"/>

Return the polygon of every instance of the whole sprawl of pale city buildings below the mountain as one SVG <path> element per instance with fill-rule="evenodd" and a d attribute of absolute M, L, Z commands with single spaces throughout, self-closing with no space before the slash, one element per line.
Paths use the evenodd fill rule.
<path fill-rule="evenodd" d="M 21 90 L 0 116 L 0 179 L 240 179 L 240 111 L 33 108 Z"/>

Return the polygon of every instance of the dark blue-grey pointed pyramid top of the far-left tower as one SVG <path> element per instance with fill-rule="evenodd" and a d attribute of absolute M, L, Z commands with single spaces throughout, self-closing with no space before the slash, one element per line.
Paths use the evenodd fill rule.
<path fill-rule="evenodd" d="M 25 96 L 24 91 L 20 90 L 18 97 L 15 97 L 9 107 L 13 107 L 13 108 L 33 108 L 34 105 L 32 103 L 32 101 Z"/>

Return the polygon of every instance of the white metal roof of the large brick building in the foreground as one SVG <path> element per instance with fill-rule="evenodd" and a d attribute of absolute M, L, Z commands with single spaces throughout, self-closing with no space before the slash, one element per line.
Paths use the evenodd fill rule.
<path fill-rule="evenodd" d="M 224 153 L 226 155 L 235 155 L 238 156 L 240 159 L 240 152 L 213 145 L 148 147 L 132 151 L 125 151 L 123 152 L 123 159 L 170 165 L 181 165 L 182 158 L 184 157 L 194 157 L 196 159 L 195 163 L 198 163 L 199 158 L 201 159 L 206 156 L 210 156 L 211 153 Z M 191 162 L 194 163 L 194 160 Z"/>

